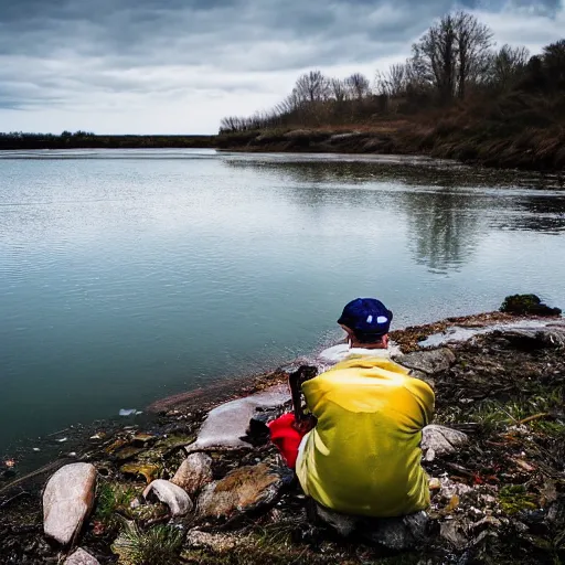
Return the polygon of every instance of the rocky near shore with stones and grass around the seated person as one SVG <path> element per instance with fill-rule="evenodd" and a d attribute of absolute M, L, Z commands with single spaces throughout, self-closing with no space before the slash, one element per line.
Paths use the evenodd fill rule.
<path fill-rule="evenodd" d="M 312 507 L 260 426 L 290 406 L 286 367 L 156 403 L 72 461 L 4 478 L 0 563 L 563 563 L 565 321 L 521 305 L 392 335 L 436 392 L 427 516 L 353 531 Z"/>

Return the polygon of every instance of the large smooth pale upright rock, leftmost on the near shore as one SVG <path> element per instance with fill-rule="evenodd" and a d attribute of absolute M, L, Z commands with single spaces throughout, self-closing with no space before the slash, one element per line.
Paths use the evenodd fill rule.
<path fill-rule="evenodd" d="M 94 504 L 96 469 L 90 463 L 62 467 L 43 492 L 43 531 L 63 545 L 81 531 Z"/>

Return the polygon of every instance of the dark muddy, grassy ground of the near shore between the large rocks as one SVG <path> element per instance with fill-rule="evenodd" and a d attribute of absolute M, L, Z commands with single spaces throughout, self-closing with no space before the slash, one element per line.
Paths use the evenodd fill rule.
<path fill-rule="evenodd" d="M 542 319 L 489 312 L 406 328 L 392 338 L 409 356 L 420 350 L 419 341 L 452 327 L 481 329 L 518 320 Z M 563 324 L 561 318 L 555 321 Z M 425 463 L 436 482 L 430 482 L 431 523 L 417 550 L 398 553 L 340 539 L 309 519 L 296 484 L 281 488 L 273 503 L 221 518 L 175 519 L 162 504 L 143 503 L 139 507 L 143 512 L 132 509 L 150 480 L 174 476 L 186 457 L 184 446 L 194 440 L 213 407 L 285 382 L 286 372 L 277 370 L 164 398 L 151 405 L 154 416 L 146 420 L 124 420 L 114 428 L 99 423 L 73 457 L 0 482 L 0 563 L 60 563 L 71 553 L 43 535 L 41 504 L 45 481 L 70 461 L 88 461 L 97 470 L 96 503 L 76 545 L 100 564 L 561 563 L 565 558 L 565 350 L 546 334 L 551 338 L 551 331 L 537 337 L 535 331 L 527 335 L 495 331 L 443 344 L 440 350 L 448 349 L 456 361 L 420 373 L 434 382 L 435 423 L 465 431 L 469 444 Z M 274 448 L 260 441 L 250 449 L 212 450 L 210 456 L 216 481 L 257 463 L 280 463 Z M 115 545 L 127 523 L 136 524 L 139 535 L 159 526 L 169 533 L 177 529 L 183 541 L 167 561 L 162 555 L 157 561 L 128 561 L 131 556 L 116 552 Z"/>

